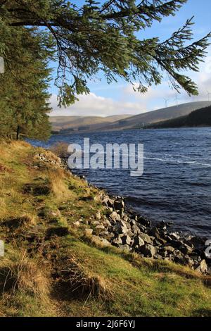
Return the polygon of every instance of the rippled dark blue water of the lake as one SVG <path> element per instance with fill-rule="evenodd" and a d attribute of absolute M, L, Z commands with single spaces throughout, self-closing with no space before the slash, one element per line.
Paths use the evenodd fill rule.
<path fill-rule="evenodd" d="M 143 143 L 144 172 L 131 177 L 129 170 L 80 170 L 87 180 L 152 220 L 173 220 L 176 230 L 211 235 L 211 128 L 129 130 L 78 135 L 55 135 L 57 141 L 90 143 Z M 34 143 L 39 144 L 41 143 Z"/>

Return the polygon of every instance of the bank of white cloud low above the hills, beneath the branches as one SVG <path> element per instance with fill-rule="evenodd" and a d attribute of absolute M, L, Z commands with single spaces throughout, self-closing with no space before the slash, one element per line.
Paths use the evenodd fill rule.
<path fill-rule="evenodd" d="M 208 49 L 210 51 L 210 49 Z M 188 96 L 181 90 L 181 94 L 177 94 L 168 82 L 164 81 L 161 85 L 151 87 L 145 94 L 134 92 L 132 85 L 115 85 L 121 92 L 120 100 L 111 99 L 104 96 L 98 96 L 91 92 L 89 95 L 80 95 L 79 101 L 69 106 L 68 108 L 58 108 L 58 101 L 55 94 L 51 96 L 51 106 L 53 112 L 51 115 L 80 115 L 80 116 L 108 116 L 120 114 L 138 114 L 146 111 L 153 111 L 158 108 L 165 107 L 165 99 L 168 99 L 167 106 L 176 104 L 176 96 L 179 104 L 191 101 L 207 101 L 207 92 L 211 92 L 211 56 L 205 58 L 205 63 L 201 63 L 199 73 L 187 73 L 198 85 L 198 96 Z M 96 93 L 103 93 L 103 88 L 96 89 Z M 113 86 L 108 85 L 108 90 L 112 94 Z M 211 101 L 211 96 L 210 96 Z"/>

